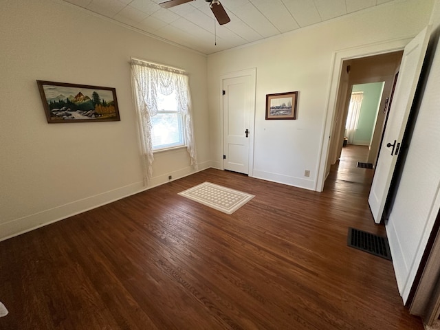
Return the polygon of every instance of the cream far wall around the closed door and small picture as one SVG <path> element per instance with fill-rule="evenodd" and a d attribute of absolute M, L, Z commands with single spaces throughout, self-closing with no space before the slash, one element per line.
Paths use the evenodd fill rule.
<path fill-rule="evenodd" d="M 397 1 L 208 56 L 210 141 L 221 167 L 220 76 L 256 67 L 254 177 L 316 189 L 336 52 L 415 36 L 430 19 L 432 1 Z M 337 80 L 338 81 L 338 80 Z M 265 95 L 299 91 L 298 120 L 265 120 Z M 331 131 L 331 129 L 329 130 Z M 327 140 L 326 140 L 327 139 Z M 325 160 L 323 166 L 325 167 Z M 304 177 L 305 170 L 310 177 Z M 325 168 L 322 170 L 325 173 Z"/>

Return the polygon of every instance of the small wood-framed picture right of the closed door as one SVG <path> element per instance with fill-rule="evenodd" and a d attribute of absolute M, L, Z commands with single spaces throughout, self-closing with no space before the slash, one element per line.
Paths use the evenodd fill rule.
<path fill-rule="evenodd" d="M 296 119 L 298 91 L 266 95 L 266 119 Z"/>

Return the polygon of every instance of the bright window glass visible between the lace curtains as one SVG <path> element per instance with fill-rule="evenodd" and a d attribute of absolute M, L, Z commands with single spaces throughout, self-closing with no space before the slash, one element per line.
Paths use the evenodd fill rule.
<path fill-rule="evenodd" d="M 182 115 L 177 111 L 177 95 L 157 95 L 157 113 L 151 117 L 153 151 L 185 145 Z"/>

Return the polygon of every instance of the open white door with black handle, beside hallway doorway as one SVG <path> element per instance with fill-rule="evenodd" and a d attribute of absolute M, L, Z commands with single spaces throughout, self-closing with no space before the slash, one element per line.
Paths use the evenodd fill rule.
<path fill-rule="evenodd" d="M 406 45 L 401 59 L 393 104 L 391 105 L 388 123 L 384 132 L 384 141 L 380 149 L 379 159 L 377 159 L 369 195 L 369 205 L 375 223 L 380 223 L 382 220 L 386 197 L 393 178 L 412 100 L 419 82 L 429 36 L 430 26 L 427 26 Z"/>

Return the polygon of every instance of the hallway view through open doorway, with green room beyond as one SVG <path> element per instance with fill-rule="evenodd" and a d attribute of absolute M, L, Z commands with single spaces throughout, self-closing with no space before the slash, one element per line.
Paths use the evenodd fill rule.
<path fill-rule="evenodd" d="M 388 101 L 402 54 L 403 51 L 397 51 L 343 61 L 335 120 L 329 142 L 327 173 L 330 173 L 332 165 L 340 161 L 342 151 L 347 147 L 350 147 L 347 148 L 347 153 L 355 149 L 362 151 L 362 155 L 358 155 L 360 159 L 357 162 L 371 163 L 374 168 L 389 110 Z M 362 92 L 362 103 L 356 113 L 355 106 L 350 101 L 352 95 L 359 98 L 360 92 Z M 363 110 L 362 106 L 364 106 Z M 351 116 L 350 110 L 352 110 Z M 362 148 L 354 146 L 362 146 Z M 326 183 L 331 177 L 327 177 Z M 368 182 L 367 188 L 370 188 L 371 180 L 366 179 L 364 182 L 365 184 Z"/>

